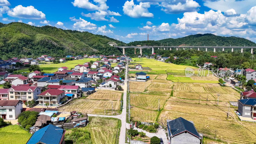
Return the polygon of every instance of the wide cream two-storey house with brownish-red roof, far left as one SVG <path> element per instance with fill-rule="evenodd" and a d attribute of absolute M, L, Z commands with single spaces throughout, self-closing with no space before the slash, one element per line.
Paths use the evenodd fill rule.
<path fill-rule="evenodd" d="M 37 100 L 41 88 L 37 86 L 12 86 L 9 90 L 9 100 L 26 101 Z"/>

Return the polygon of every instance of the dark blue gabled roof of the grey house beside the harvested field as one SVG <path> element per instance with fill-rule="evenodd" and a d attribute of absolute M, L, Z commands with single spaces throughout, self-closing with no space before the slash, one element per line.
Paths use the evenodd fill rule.
<path fill-rule="evenodd" d="M 185 120 L 182 117 L 176 118 L 172 121 L 167 122 L 168 128 L 172 133 L 172 136 L 180 134 L 181 132 L 188 131 L 189 133 L 195 135 L 196 137 L 200 138 L 199 133 L 196 131 L 196 128 L 193 123 Z"/>

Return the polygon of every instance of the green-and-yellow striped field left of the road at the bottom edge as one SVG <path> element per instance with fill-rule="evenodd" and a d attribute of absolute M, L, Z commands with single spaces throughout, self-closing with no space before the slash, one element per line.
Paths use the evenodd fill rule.
<path fill-rule="evenodd" d="M 89 117 L 89 123 L 86 127 L 90 132 L 93 144 L 118 144 L 118 133 L 120 133 L 121 121 L 116 118 L 107 117 Z M 67 130 L 66 133 L 70 133 Z"/>

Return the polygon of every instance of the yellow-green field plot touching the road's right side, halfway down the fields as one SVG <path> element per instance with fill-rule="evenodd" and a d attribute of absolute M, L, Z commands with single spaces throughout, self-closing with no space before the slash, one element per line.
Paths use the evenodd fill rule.
<path fill-rule="evenodd" d="M 151 94 L 130 94 L 130 104 L 132 106 L 157 110 L 158 109 L 158 99 L 159 99 L 159 107 L 163 108 L 165 100 L 169 96 L 166 95 L 151 95 Z"/>

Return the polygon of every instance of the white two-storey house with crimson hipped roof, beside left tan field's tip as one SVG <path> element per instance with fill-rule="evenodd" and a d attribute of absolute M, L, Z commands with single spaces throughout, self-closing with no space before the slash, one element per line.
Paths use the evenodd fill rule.
<path fill-rule="evenodd" d="M 46 103 L 49 103 L 50 106 L 57 106 L 60 104 L 60 99 L 65 97 L 65 92 L 58 89 L 47 89 L 37 96 L 39 105 L 45 106 Z"/>

